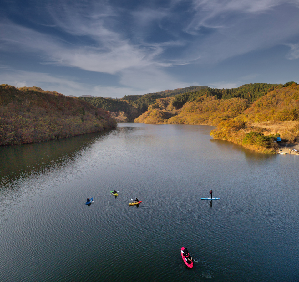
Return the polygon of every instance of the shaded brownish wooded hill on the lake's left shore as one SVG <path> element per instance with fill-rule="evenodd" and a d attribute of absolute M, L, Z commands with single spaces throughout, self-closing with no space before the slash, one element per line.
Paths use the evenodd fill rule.
<path fill-rule="evenodd" d="M 77 97 L 38 87 L 0 85 L 0 145 L 23 144 L 101 131 L 111 115 Z"/>

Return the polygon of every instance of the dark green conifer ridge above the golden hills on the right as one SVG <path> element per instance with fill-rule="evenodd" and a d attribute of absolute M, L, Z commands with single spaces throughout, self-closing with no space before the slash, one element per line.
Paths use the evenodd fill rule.
<path fill-rule="evenodd" d="M 292 83 L 292 82 L 288 82 Z M 175 107 L 182 107 L 186 102 L 192 102 L 198 99 L 200 96 L 215 96 L 217 99 L 231 99 L 241 98 L 246 99 L 249 102 L 254 102 L 260 97 L 266 95 L 274 89 L 281 88 L 282 84 L 267 84 L 267 83 L 251 83 L 244 84 L 237 88 L 231 89 L 216 89 L 216 88 L 205 88 L 199 91 L 187 92 L 177 95 L 173 102 Z"/>

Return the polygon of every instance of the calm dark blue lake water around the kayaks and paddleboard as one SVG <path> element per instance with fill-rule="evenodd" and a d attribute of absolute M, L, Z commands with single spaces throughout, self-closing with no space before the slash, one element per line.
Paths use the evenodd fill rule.
<path fill-rule="evenodd" d="M 0 281 L 299 281 L 299 156 L 211 129 L 119 123 L 0 147 Z M 201 200 L 210 189 L 221 199 Z"/>

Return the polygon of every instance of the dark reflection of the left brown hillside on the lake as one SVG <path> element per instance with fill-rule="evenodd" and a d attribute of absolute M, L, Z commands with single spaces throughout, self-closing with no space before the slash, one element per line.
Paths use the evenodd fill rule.
<path fill-rule="evenodd" d="M 36 142 L 31 144 L 0 147 L 1 190 L 19 177 L 39 174 L 58 165 L 72 162 L 80 152 L 94 142 L 105 139 L 115 128 L 99 133 L 88 133 L 69 138 Z"/>

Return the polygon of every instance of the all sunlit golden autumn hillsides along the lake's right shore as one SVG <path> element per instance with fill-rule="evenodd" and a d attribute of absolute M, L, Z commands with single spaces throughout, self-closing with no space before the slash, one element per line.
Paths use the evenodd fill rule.
<path fill-rule="evenodd" d="M 259 95 L 266 93 L 254 102 L 240 97 L 220 99 L 217 95 L 200 95 L 180 108 L 175 106 L 177 96 L 161 98 L 135 122 L 215 125 L 211 131 L 214 139 L 271 153 L 277 149 L 274 141 L 278 136 L 285 142 L 299 141 L 299 86 L 289 82 L 273 88 L 261 87 Z M 248 96 L 254 97 L 252 93 Z"/>

